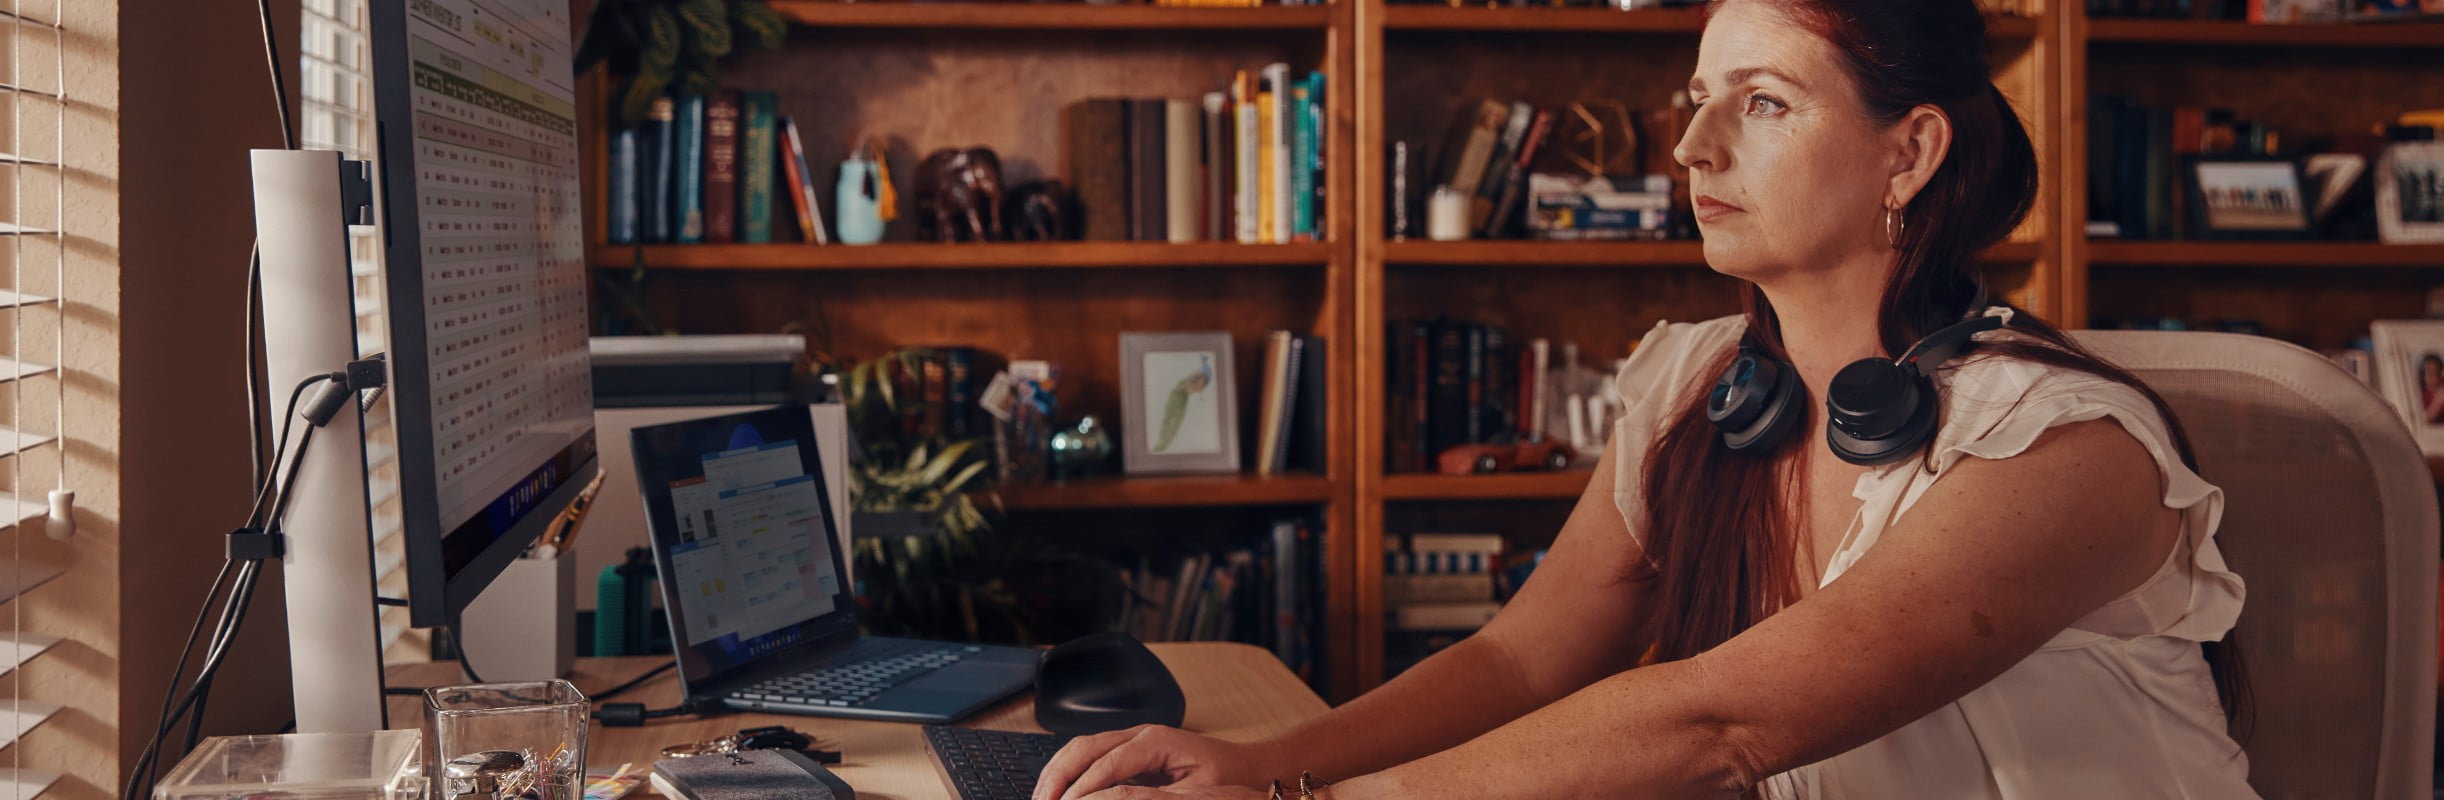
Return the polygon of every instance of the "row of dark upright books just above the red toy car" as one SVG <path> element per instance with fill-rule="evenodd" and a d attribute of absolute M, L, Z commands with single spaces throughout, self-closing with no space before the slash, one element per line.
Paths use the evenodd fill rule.
<path fill-rule="evenodd" d="M 1435 455 L 1457 445 L 1557 433 L 1552 343 L 1452 318 L 1393 323 L 1388 340 L 1386 470 L 1435 472 Z"/>

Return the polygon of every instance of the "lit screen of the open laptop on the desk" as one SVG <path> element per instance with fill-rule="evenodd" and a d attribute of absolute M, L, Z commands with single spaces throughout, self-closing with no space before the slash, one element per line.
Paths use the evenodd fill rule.
<path fill-rule="evenodd" d="M 804 406 L 631 431 L 689 685 L 855 629 Z"/>

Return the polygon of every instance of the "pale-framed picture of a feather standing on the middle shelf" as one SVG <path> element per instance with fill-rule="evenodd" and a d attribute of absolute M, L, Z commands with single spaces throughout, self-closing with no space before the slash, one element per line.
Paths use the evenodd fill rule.
<path fill-rule="evenodd" d="M 1227 330 L 1122 333 L 1122 467 L 1239 472 L 1239 387 Z"/>

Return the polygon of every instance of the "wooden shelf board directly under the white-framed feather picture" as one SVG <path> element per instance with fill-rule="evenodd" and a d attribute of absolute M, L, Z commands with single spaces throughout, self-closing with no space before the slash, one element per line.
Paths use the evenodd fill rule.
<path fill-rule="evenodd" d="M 1322 475 L 1171 475 L 1014 484 L 995 492 L 1002 494 L 1004 506 L 1024 511 L 1293 506 L 1330 502 L 1332 482 Z"/>

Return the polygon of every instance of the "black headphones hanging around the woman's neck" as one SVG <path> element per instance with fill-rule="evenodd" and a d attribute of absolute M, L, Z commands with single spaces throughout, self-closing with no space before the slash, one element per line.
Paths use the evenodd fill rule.
<path fill-rule="evenodd" d="M 1909 457 L 1936 435 L 1936 387 L 1931 374 L 1953 360 L 1970 335 L 2004 325 L 1987 316 L 1985 286 L 1960 323 L 1928 333 L 1899 360 L 1865 357 L 1833 374 L 1826 387 L 1826 445 L 1845 462 L 1872 467 Z M 1740 335 L 1740 355 L 1706 394 L 1706 421 L 1723 431 L 1733 453 L 1772 453 L 1799 428 L 1806 399 L 1799 369 Z"/>

